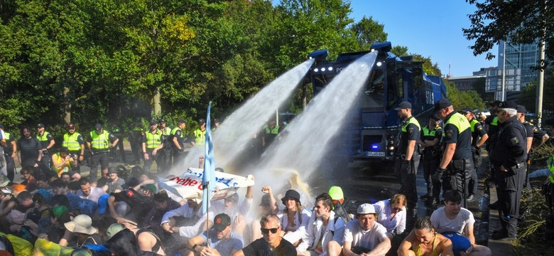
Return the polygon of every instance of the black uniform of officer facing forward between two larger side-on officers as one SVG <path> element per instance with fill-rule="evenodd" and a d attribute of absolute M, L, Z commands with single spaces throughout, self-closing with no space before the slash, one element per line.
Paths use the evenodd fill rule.
<path fill-rule="evenodd" d="M 427 198 L 434 199 L 437 203 L 439 202 L 440 195 L 440 181 L 435 181 L 431 176 L 437 171 L 437 168 L 440 164 L 440 159 L 442 154 L 440 151 L 440 140 L 442 139 L 442 127 L 436 125 L 435 127 L 423 127 L 421 130 L 421 140 L 422 141 L 433 141 L 438 139 L 439 143 L 435 146 L 426 146 L 423 148 L 423 177 L 425 178 L 425 183 L 427 183 Z M 425 199 L 422 197 L 422 199 Z"/>

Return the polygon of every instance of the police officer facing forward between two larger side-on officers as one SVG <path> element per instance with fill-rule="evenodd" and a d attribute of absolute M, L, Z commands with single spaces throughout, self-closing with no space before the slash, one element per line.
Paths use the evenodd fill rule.
<path fill-rule="evenodd" d="M 438 117 L 430 115 L 428 125 L 421 130 L 419 142 L 419 146 L 423 148 L 423 177 L 427 183 L 427 193 L 420 198 L 437 205 L 440 203 L 440 181 L 434 181 L 431 175 L 437 171 L 442 156 L 440 154 L 442 127 L 439 125 L 439 120 Z"/>

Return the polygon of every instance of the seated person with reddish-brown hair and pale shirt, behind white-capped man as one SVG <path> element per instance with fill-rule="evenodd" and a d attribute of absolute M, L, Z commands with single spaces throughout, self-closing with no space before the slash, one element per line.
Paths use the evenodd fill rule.
<path fill-rule="evenodd" d="M 377 222 L 386 228 L 390 239 L 406 230 L 406 196 L 396 194 L 373 206 L 377 212 Z"/>

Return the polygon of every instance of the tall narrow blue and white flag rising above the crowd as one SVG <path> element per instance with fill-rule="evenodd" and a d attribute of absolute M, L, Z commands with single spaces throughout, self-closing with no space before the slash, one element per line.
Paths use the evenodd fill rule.
<path fill-rule="evenodd" d="M 207 213 L 210 208 L 210 199 L 215 190 L 215 162 L 214 162 L 214 145 L 212 144 L 212 129 L 210 127 L 210 110 L 212 102 L 208 105 L 206 117 L 206 143 L 204 144 L 204 174 L 202 175 L 202 214 Z"/>

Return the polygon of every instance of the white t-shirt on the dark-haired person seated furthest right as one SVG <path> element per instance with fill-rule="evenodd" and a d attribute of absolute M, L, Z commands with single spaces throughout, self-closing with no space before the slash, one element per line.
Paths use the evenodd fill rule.
<path fill-rule="evenodd" d="M 433 228 L 435 228 L 438 233 L 455 232 L 460 235 L 465 235 L 465 226 L 474 225 L 475 218 L 473 218 L 473 213 L 471 211 L 466 208 L 460 208 L 460 213 L 458 213 L 456 218 L 450 220 L 446 216 L 445 207 L 442 206 L 433 211 L 431 223 L 433 223 Z"/>

